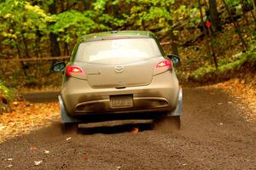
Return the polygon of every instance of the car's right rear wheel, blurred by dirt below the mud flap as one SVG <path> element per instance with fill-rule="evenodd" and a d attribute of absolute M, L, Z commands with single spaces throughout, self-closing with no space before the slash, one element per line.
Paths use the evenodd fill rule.
<path fill-rule="evenodd" d="M 181 128 L 180 116 L 165 116 L 154 120 L 154 127 L 165 130 L 179 130 Z"/>

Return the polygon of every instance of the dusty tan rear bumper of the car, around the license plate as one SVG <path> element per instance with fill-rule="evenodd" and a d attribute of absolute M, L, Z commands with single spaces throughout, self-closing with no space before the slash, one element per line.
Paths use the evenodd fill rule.
<path fill-rule="evenodd" d="M 165 81 L 163 81 L 165 80 Z M 76 87 L 76 88 L 74 88 Z M 100 113 L 131 113 L 152 111 L 174 111 L 177 107 L 178 82 L 172 72 L 155 76 L 148 86 L 131 88 L 90 88 L 88 82 L 73 79 L 61 90 L 63 106 L 70 116 Z M 110 108 L 110 95 L 132 94 L 134 107 Z"/>

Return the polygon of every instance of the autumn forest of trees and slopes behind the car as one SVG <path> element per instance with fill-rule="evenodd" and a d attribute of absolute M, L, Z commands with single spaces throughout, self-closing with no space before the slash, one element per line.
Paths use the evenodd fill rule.
<path fill-rule="evenodd" d="M 243 78 L 256 86 L 256 0 L 1 0 L 0 99 L 14 89 L 60 88 L 51 71 L 76 39 L 113 30 L 153 31 L 182 64 L 183 86 Z M 62 56 L 62 57 L 61 57 Z M 54 58 L 53 58 L 54 57 Z M 1 97 L 2 96 L 2 97 Z"/>

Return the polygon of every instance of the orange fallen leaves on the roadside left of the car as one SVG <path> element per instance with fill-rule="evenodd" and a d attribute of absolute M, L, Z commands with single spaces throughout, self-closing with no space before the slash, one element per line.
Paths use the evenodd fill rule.
<path fill-rule="evenodd" d="M 57 102 L 30 104 L 26 101 L 16 101 L 11 107 L 12 111 L 0 115 L 0 144 L 41 127 L 49 127 L 60 118 Z"/>

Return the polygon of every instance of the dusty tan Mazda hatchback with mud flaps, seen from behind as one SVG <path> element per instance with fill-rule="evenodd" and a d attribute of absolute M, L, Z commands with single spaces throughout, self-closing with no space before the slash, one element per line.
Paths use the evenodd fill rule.
<path fill-rule="evenodd" d="M 80 37 L 63 72 L 61 122 L 170 117 L 180 123 L 182 88 L 174 66 L 150 31 L 108 31 Z"/>

